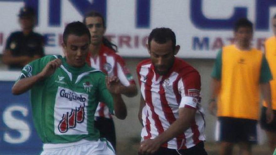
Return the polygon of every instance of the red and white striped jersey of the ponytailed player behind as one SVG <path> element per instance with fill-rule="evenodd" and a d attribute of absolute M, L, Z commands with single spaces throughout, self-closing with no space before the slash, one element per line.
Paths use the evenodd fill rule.
<path fill-rule="evenodd" d="M 91 54 L 88 53 L 86 62 L 91 67 L 101 70 L 108 76 L 117 76 L 120 82 L 125 86 L 135 83 L 132 75 L 125 66 L 124 59 L 116 54 L 113 49 L 110 49 L 103 44 L 101 45 L 99 54 L 96 57 L 92 57 Z M 103 102 L 99 103 L 95 112 L 95 117 L 112 118 L 108 107 Z"/>

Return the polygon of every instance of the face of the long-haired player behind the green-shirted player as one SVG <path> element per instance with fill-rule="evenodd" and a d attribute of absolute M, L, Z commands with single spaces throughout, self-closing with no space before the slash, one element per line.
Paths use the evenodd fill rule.
<path fill-rule="evenodd" d="M 91 34 L 91 44 L 101 44 L 105 33 L 103 19 L 100 17 L 87 17 L 85 18 L 85 24 Z"/>

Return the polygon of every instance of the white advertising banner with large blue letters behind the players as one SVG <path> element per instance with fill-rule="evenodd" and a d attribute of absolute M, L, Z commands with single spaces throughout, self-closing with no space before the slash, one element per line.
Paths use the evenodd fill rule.
<path fill-rule="evenodd" d="M 61 54 L 66 23 L 82 21 L 89 8 L 106 16 L 106 36 L 126 57 L 147 57 L 147 36 L 153 28 L 171 28 L 181 46 L 179 57 L 215 58 L 222 45 L 233 42 L 232 24 L 247 17 L 255 27 L 254 47 L 261 49 L 273 35 L 271 18 L 276 13 L 273 0 L 25 0 L 36 6 L 36 32 L 46 38 L 45 54 Z M 0 50 L 8 35 L 20 30 L 17 14 L 23 0 L 0 0 Z"/>

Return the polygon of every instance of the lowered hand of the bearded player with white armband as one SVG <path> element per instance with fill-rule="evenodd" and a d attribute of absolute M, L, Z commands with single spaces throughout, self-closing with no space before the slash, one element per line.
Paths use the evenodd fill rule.
<path fill-rule="evenodd" d="M 156 139 L 147 139 L 141 142 L 139 155 L 150 155 L 156 152 L 161 147 L 161 143 Z"/>

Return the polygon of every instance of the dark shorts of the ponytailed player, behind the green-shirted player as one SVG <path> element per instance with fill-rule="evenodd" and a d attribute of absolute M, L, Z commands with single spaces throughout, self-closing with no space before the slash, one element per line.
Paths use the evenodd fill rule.
<path fill-rule="evenodd" d="M 116 134 L 113 119 L 96 117 L 95 127 L 100 131 L 100 137 L 106 138 L 116 151 Z"/>

